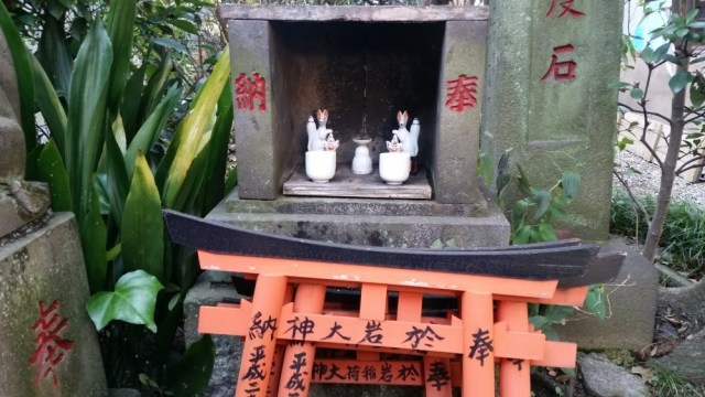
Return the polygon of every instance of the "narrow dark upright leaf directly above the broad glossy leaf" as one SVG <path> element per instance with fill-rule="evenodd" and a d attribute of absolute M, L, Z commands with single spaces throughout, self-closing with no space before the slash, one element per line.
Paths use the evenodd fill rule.
<path fill-rule="evenodd" d="M 100 214 L 100 198 L 93 185 L 89 186 L 89 211 L 79 222 L 80 244 L 84 249 L 88 285 L 91 292 L 101 291 L 105 288 L 107 275 L 106 242 L 108 230 Z"/>

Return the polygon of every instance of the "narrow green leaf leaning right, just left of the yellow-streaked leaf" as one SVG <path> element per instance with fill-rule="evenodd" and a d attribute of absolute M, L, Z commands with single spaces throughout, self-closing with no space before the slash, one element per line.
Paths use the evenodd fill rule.
<path fill-rule="evenodd" d="M 154 146 L 160 132 L 164 129 L 169 120 L 169 116 L 181 99 L 181 88 L 175 85 L 170 87 L 162 101 L 156 105 L 154 111 L 147 118 L 147 121 L 140 127 L 140 130 L 130 142 L 128 151 L 124 154 L 124 163 L 128 167 L 129 178 L 132 178 L 132 173 L 134 172 L 137 154 L 139 152 L 147 153 L 150 148 Z"/>

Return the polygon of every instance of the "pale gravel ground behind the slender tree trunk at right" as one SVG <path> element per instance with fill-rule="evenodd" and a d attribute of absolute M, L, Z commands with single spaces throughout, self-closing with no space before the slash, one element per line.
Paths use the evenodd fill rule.
<path fill-rule="evenodd" d="M 620 171 L 629 189 L 637 195 L 657 195 L 661 184 L 661 169 L 640 157 L 622 151 L 616 159 L 616 170 Z M 614 186 L 621 183 L 614 178 Z M 699 206 L 705 206 L 705 182 L 690 183 L 676 176 L 673 184 L 673 200 L 687 200 Z"/>

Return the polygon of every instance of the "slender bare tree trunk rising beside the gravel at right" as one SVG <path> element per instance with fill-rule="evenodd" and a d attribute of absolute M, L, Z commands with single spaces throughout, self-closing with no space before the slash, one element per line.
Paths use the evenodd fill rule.
<path fill-rule="evenodd" d="M 681 10 L 683 10 L 683 12 L 681 12 Z M 681 4 L 681 1 L 673 1 L 672 12 L 674 14 L 686 14 L 688 10 L 688 4 Z M 681 64 L 676 65 L 675 68 L 676 74 L 683 71 L 687 72 L 690 66 L 691 58 L 686 54 L 686 49 L 683 49 L 684 45 L 686 44 L 675 44 L 675 56 L 681 60 Z M 642 253 L 642 255 L 650 261 L 653 261 L 655 257 L 659 240 L 663 234 L 665 215 L 669 211 L 669 204 L 671 203 L 671 192 L 673 191 L 673 181 L 675 180 L 675 167 L 679 160 L 681 139 L 683 138 L 683 127 L 685 126 L 685 93 L 686 87 L 681 89 L 677 94 L 674 94 L 671 100 L 671 135 L 669 136 L 669 147 L 665 161 L 661 168 L 661 186 Z"/>

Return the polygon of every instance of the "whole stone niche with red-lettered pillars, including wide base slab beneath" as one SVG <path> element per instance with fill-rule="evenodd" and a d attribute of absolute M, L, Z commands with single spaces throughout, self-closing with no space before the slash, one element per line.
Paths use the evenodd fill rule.
<path fill-rule="evenodd" d="M 487 7 L 223 4 L 228 22 L 238 187 L 208 218 L 373 246 L 496 246 L 509 225 L 476 179 Z M 305 178 L 306 122 L 327 109 L 336 175 Z M 379 178 L 397 111 L 421 121 L 419 173 Z M 375 172 L 351 172 L 356 138 Z"/>

